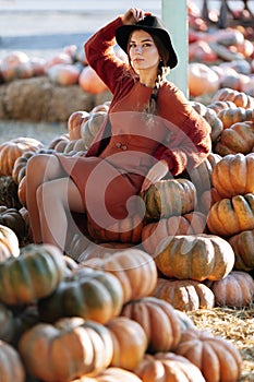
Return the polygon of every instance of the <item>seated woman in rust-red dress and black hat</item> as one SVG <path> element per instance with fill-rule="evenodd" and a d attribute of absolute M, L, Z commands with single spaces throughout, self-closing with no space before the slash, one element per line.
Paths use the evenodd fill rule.
<path fill-rule="evenodd" d="M 126 62 L 114 53 L 114 37 Z M 141 190 L 192 169 L 211 147 L 208 123 L 166 80 L 178 59 L 158 17 L 132 8 L 95 33 L 85 53 L 113 95 L 106 123 L 83 157 L 36 155 L 27 165 L 34 241 L 61 250 L 73 213 L 107 228 L 136 213 Z"/>

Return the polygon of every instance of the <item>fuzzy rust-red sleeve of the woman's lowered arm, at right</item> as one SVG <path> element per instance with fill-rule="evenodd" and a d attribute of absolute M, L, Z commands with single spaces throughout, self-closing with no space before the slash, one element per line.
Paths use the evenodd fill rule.
<path fill-rule="evenodd" d="M 159 115 L 168 135 L 155 157 L 166 160 L 172 175 L 192 170 L 211 151 L 210 126 L 198 115 L 176 86 L 168 86 L 159 99 Z"/>

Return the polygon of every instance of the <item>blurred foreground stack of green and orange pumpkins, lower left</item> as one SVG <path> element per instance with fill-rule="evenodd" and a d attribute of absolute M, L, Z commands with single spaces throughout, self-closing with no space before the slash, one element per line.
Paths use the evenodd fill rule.
<path fill-rule="evenodd" d="M 0 234 L 2 381 L 239 380 L 234 345 L 153 296 L 157 266 L 145 251 L 85 265 L 55 246 L 20 248 L 5 226 Z"/>

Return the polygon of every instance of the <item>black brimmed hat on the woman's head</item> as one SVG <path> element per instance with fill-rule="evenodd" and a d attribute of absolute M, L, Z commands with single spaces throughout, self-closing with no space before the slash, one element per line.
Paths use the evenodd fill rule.
<path fill-rule="evenodd" d="M 130 34 L 136 29 L 143 29 L 152 35 L 157 35 L 158 37 L 160 37 L 160 39 L 165 44 L 165 47 L 169 51 L 169 59 L 167 62 L 168 67 L 172 69 L 178 64 L 178 58 L 172 47 L 171 38 L 168 31 L 166 29 L 161 20 L 152 15 L 144 17 L 135 24 L 119 26 L 119 28 L 116 31 L 117 43 L 125 52 L 128 48 Z"/>

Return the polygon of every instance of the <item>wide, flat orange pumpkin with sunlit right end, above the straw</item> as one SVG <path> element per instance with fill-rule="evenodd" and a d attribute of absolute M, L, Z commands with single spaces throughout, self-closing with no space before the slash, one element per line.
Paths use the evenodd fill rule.
<path fill-rule="evenodd" d="M 234 253 L 225 239 L 213 235 L 179 235 L 161 240 L 155 262 L 167 277 L 216 280 L 232 271 Z"/>

